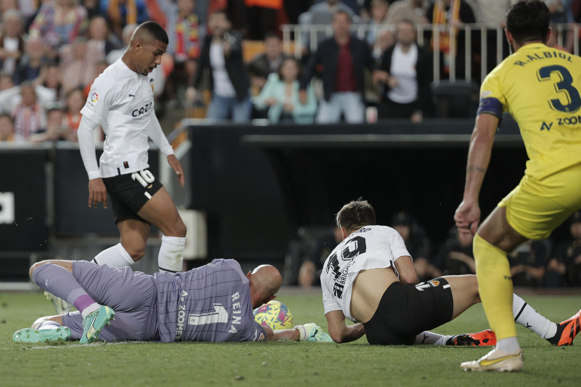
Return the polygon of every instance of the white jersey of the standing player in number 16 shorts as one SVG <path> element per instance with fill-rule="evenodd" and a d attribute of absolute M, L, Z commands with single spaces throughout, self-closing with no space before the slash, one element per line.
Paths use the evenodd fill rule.
<path fill-rule="evenodd" d="M 153 73 L 137 74 L 121 58 L 93 82 L 81 114 L 101 124 L 105 132 L 99 159 L 102 178 L 149 167 L 148 128 L 155 115 L 152 85 Z"/>

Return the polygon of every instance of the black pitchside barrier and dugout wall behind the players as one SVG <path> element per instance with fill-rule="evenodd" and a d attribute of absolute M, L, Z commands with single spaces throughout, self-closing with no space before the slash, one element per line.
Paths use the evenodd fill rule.
<path fill-rule="evenodd" d="M 300 227 L 332 227 L 338 209 L 361 196 L 374 205 L 378 222 L 409 211 L 441 243 L 461 200 L 473 126 L 474 118 L 272 126 L 184 120 L 180 130 L 187 142 L 182 143 L 189 149 L 178 154 L 187 168 L 191 188 L 186 190 L 175 187 L 173 172 L 157 171 L 159 151 L 153 144 L 149 158 L 152 172 L 169 176 L 174 198 L 188 196 L 176 200 L 178 207 L 187 203 L 185 209 L 205 215 L 207 260 L 234 258 L 245 270 L 259 263 L 282 268 Z M 483 213 L 517 185 L 525 161 L 518 127 L 506 117 L 489 167 L 494 179 L 485 179 L 482 187 Z M 77 144 L 1 144 L 0 165 L 7 172 L 0 192 L 15 193 L 19 224 L 0 225 L 0 257 L 6 258 L 0 277 L 10 269 L 26 280 L 31 252 L 91 259 L 117 243 L 110 209 L 87 207 L 87 176 Z M 152 267 L 136 269 L 155 271 L 158 243 L 150 238 L 146 257 L 138 262 Z M 10 252 L 19 252 L 18 265 L 6 256 Z"/>

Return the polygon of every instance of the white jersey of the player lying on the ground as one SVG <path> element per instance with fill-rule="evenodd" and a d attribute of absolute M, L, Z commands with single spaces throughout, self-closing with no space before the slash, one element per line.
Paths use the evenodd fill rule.
<path fill-rule="evenodd" d="M 328 256 L 321 272 L 325 314 L 341 310 L 351 316 L 353 282 L 361 270 L 393 267 L 400 256 L 410 256 L 400 234 L 388 226 L 364 226 L 350 234 Z M 357 322 L 357 321 L 355 321 Z"/>

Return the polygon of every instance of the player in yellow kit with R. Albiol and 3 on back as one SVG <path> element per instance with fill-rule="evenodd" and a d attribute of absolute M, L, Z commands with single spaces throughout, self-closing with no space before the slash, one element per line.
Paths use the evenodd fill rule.
<path fill-rule="evenodd" d="M 507 252 L 526 240 L 547 238 L 581 208 L 581 59 L 546 45 L 549 21 L 543 1 L 511 5 L 505 32 L 514 53 L 480 87 L 464 197 L 454 220 L 462 232 L 474 234 L 478 290 L 498 343 L 479 360 L 462 363 L 464 370 L 522 370 Z M 504 112 L 517 121 L 529 161 L 519 185 L 479 227 L 480 187 Z M 576 334 L 579 324 L 567 329 Z"/>

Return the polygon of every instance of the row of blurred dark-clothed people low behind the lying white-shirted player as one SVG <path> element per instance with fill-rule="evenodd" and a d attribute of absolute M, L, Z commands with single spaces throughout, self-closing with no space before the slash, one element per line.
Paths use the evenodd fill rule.
<path fill-rule="evenodd" d="M 555 244 L 551 238 L 527 241 L 508 254 L 515 286 L 581 286 L 581 211 L 575 212 L 565 225 L 569 226 L 568 237 L 560 243 Z M 419 281 L 442 275 L 475 274 L 472 236 L 458 232 L 456 226 L 439 248 L 432 247 L 423 227 L 405 212 L 393 216 L 390 226 L 401 235 L 413 256 Z M 309 287 L 319 283 L 325 259 L 340 242 L 338 229 L 330 230 L 317 241 L 304 256 L 299 285 Z"/>

